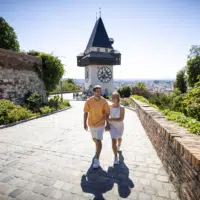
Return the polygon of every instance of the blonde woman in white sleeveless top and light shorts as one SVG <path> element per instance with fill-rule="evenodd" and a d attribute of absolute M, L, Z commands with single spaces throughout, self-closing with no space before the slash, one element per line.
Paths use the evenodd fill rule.
<path fill-rule="evenodd" d="M 112 149 L 115 155 L 114 165 L 119 164 L 117 157 L 117 151 L 120 150 L 122 142 L 122 134 L 124 132 L 124 114 L 125 109 L 120 105 L 120 95 L 117 92 L 114 92 L 111 96 L 112 105 L 110 105 L 110 135 L 112 138 Z"/>

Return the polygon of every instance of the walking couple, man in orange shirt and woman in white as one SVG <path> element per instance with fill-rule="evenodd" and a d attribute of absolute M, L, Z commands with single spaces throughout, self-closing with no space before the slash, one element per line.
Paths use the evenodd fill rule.
<path fill-rule="evenodd" d="M 84 105 L 84 129 L 89 130 L 96 146 L 93 168 L 100 165 L 99 157 L 102 149 L 103 133 L 109 131 L 112 138 L 112 149 L 114 153 L 114 165 L 119 164 L 117 151 L 120 150 L 122 134 L 124 131 L 125 109 L 120 105 L 120 95 L 112 94 L 112 104 L 108 105 L 106 99 L 101 96 L 101 86 L 93 88 L 94 95 Z M 106 124 L 106 125 L 105 125 Z"/>

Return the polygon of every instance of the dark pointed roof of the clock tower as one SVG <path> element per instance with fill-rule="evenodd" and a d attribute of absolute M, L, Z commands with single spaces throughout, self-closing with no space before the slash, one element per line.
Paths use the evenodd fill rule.
<path fill-rule="evenodd" d="M 99 17 L 93 28 L 86 50 L 90 47 L 103 47 L 113 49 L 112 43 L 113 41 L 108 37 L 103 24 L 103 20 L 101 17 Z"/>

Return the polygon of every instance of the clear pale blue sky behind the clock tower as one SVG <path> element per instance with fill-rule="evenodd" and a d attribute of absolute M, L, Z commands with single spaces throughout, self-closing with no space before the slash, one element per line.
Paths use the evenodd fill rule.
<path fill-rule="evenodd" d="M 76 56 L 85 50 L 99 7 L 122 53 L 114 78 L 175 78 L 191 45 L 200 44 L 199 0 L 0 0 L 0 15 L 22 50 L 53 52 L 66 64 L 65 77 L 84 78 Z"/>

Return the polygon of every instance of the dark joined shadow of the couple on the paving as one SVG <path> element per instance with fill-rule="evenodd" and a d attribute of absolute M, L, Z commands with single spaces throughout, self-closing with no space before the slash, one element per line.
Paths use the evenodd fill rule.
<path fill-rule="evenodd" d="M 94 200 L 105 200 L 103 194 L 112 190 L 114 183 L 116 183 L 120 197 L 128 197 L 134 184 L 128 177 L 129 169 L 124 163 L 122 152 L 119 152 L 119 161 L 119 165 L 109 167 L 108 172 L 101 167 L 93 169 L 90 166 L 87 174 L 83 175 L 81 179 L 83 192 L 93 194 Z"/>

